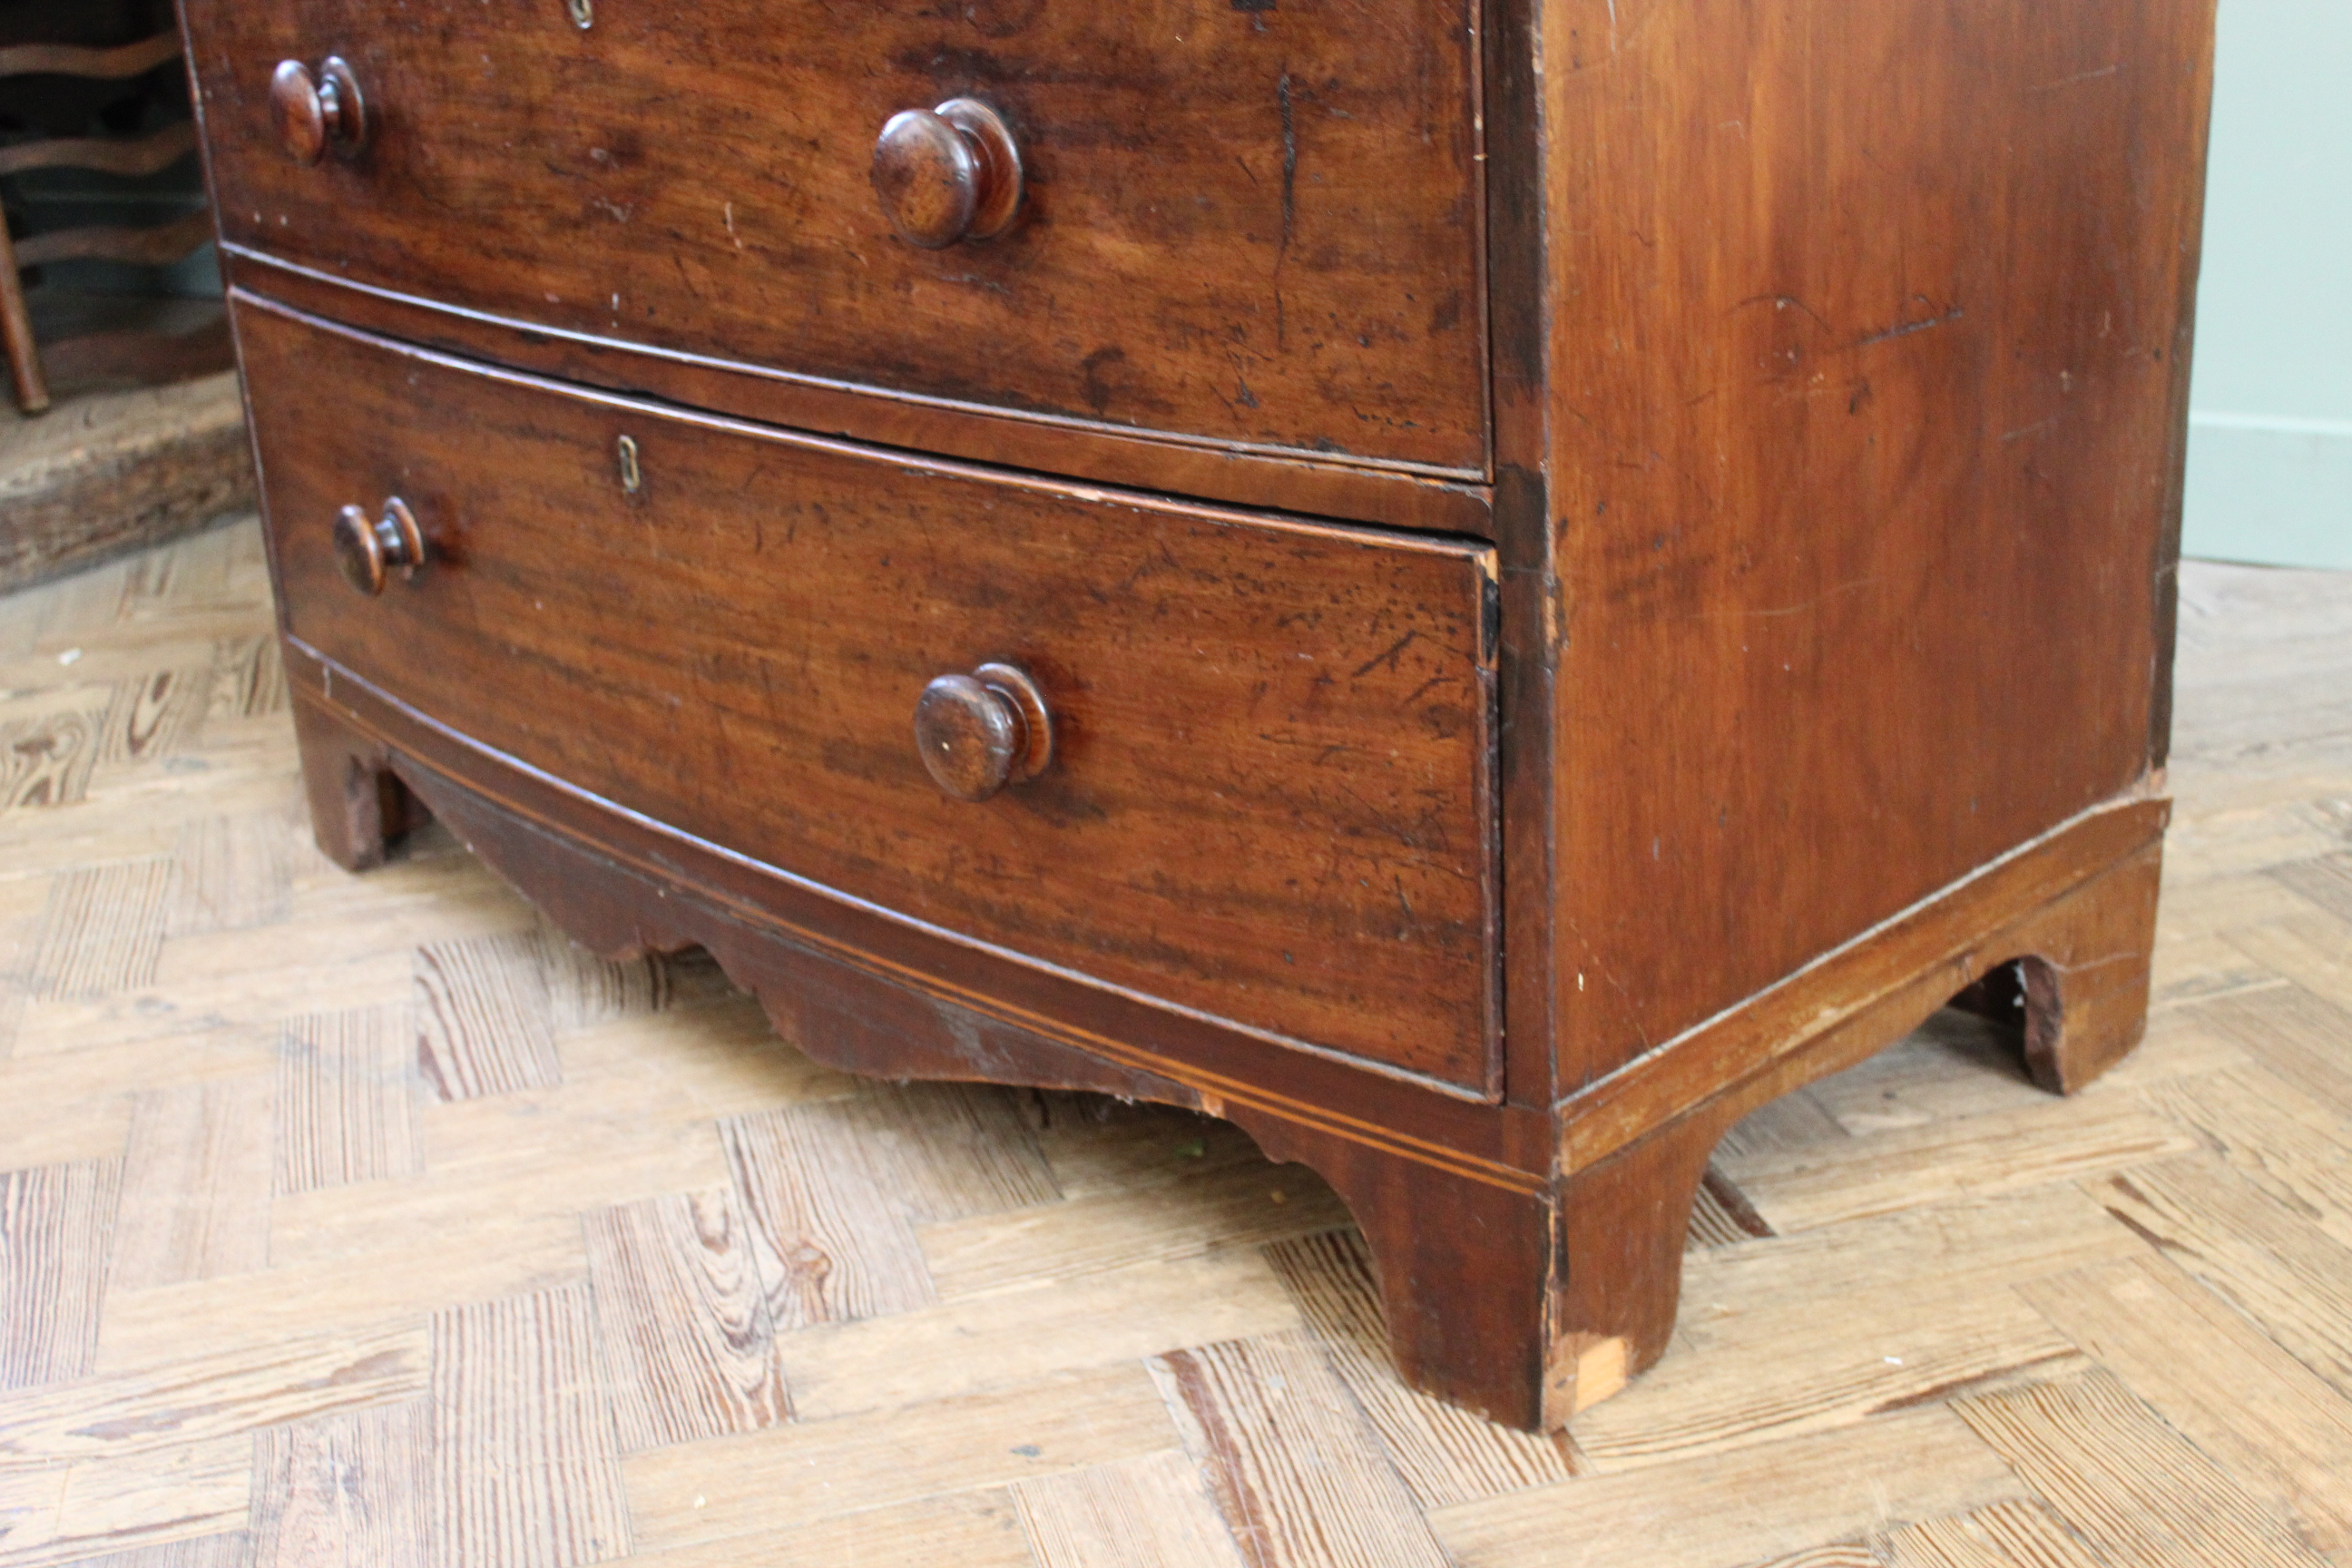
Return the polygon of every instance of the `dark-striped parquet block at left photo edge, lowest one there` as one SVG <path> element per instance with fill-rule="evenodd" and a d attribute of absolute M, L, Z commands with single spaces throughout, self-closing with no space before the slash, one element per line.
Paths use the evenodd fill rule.
<path fill-rule="evenodd" d="M 89 1375 L 120 1159 L 0 1173 L 0 1389 Z"/>

